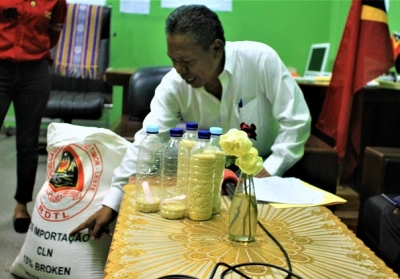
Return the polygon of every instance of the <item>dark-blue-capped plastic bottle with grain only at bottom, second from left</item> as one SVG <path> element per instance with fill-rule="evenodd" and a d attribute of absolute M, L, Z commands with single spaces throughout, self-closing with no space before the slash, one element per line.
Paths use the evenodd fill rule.
<path fill-rule="evenodd" d="M 170 129 L 170 140 L 163 149 L 160 213 L 166 219 L 181 219 L 186 215 L 187 173 L 180 168 L 187 169 L 189 161 L 181 158 L 188 158 L 189 153 L 186 145 L 182 145 L 182 135 L 183 129 Z"/>

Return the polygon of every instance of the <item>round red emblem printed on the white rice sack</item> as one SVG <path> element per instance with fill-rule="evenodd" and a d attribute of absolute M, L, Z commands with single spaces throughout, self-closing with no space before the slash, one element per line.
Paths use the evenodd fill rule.
<path fill-rule="evenodd" d="M 48 187 L 43 187 L 36 203 L 47 221 L 65 221 L 86 209 L 93 201 L 103 158 L 96 144 L 70 144 L 48 152 Z"/>

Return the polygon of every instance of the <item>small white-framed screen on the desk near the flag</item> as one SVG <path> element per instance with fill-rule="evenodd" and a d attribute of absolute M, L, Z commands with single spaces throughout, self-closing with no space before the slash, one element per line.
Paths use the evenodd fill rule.
<path fill-rule="evenodd" d="M 305 76 L 322 75 L 329 54 L 329 43 L 312 44 L 307 58 Z"/>

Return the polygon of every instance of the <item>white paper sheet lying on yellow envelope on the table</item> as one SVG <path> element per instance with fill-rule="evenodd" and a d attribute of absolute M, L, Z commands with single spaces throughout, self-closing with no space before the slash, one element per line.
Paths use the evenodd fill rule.
<path fill-rule="evenodd" d="M 254 178 L 258 201 L 288 204 L 319 204 L 325 193 L 305 186 L 298 178 L 277 176 Z"/>

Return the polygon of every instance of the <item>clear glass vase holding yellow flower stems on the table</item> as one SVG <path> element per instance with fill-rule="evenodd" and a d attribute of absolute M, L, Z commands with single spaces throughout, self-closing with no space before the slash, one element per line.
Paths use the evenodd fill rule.
<path fill-rule="evenodd" d="M 229 237 L 234 241 L 255 239 L 258 209 L 253 175 L 242 173 L 229 208 Z"/>

